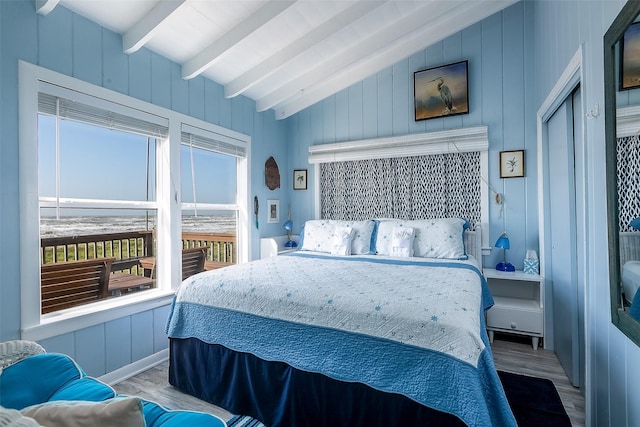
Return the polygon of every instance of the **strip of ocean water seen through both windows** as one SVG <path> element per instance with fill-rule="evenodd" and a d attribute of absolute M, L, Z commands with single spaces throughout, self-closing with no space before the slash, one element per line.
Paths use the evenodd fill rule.
<path fill-rule="evenodd" d="M 155 218 L 144 216 L 66 216 L 40 218 L 41 237 L 82 236 L 88 234 L 123 233 L 153 230 Z M 183 231 L 232 233 L 236 218 L 230 215 L 199 215 L 182 217 Z"/>

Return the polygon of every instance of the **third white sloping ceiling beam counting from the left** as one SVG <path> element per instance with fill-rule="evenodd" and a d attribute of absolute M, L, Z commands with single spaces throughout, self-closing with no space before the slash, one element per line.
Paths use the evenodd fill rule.
<path fill-rule="evenodd" d="M 295 0 L 268 1 L 254 14 L 243 20 L 240 25 L 232 28 L 206 49 L 191 58 L 182 66 L 182 78 L 192 79 L 215 64 L 222 54 L 240 43 L 263 25 L 289 8 Z"/>

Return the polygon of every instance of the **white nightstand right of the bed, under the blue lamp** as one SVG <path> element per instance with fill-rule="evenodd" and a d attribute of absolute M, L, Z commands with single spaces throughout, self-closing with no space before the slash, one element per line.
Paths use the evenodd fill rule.
<path fill-rule="evenodd" d="M 544 331 L 544 278 L 522 271 L 504 272 L 485 269 L 484 276 L 495 305 L 487 312 L 487 331 L 527 335 L 538 349 Z"/>

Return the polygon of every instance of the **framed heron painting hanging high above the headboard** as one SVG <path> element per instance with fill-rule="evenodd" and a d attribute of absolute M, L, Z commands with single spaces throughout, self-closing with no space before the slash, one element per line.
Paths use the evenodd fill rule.
<path fill-rule="evenodd" d="M 469 61 L 413 73 L 416 121 L 469 113 Z"/>

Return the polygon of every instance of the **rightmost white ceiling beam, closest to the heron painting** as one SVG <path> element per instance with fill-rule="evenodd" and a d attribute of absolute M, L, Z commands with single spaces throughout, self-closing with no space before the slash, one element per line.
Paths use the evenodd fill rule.
<path fill-rule="evenodd" d="M 325 74 L 325 76 L 329 76 L 327 78 L 309 82 L 309 84 L 314 84 L 312 89 L 301 90 L 304 88 L 303 86 L 281 102 L 267 108 L 274 108 L 276 119 L 285 119 L 384 69 L 388 64 L 396 63 L 424 49 L 425 40 L 429 41 L 428 45 L 432 45 L 451 34 L 461 31 L 463 27 L 470 25 L 469 16 L 475 17 L 475 22 L 479 22 L 514 2 L 515 0 L 474 2 L 472 7 L 464 8 L 459 12 L 453 9 L 446 16 L 441 16 L 442 19 L 438 19 L 436 21 L 437 24 L 429 25 L 423 28 L 422 31 L 414 31 L 404 37 L 400 37 L 383 48 L 378 46 L 377 52 L 370 53 L 368 56 L 360 58 L 357 62 L 344 66 L 341 70 Z M 264 108 L 264 104 L 260 105 L 260 101 L 256 102 L 256 109 L 258 111 L 266 110 L 267 108 Z M 261 110 L 261 107 L 264 109 Z"/>

